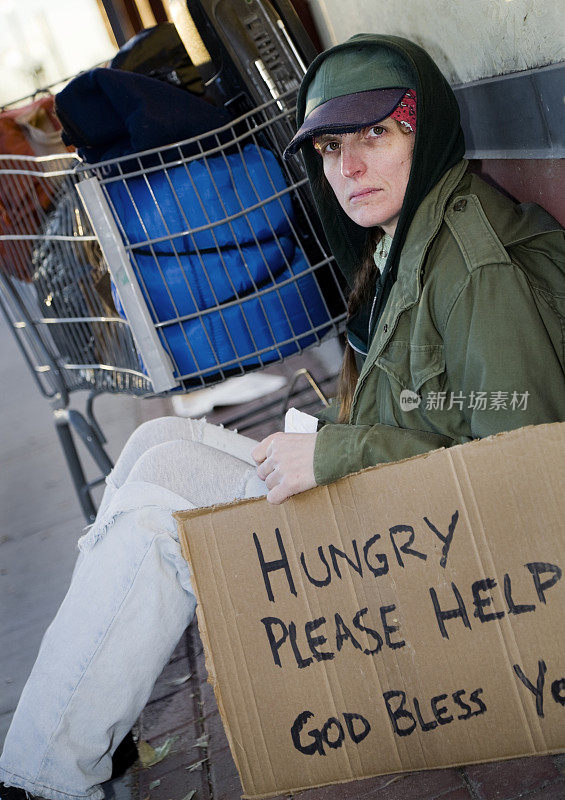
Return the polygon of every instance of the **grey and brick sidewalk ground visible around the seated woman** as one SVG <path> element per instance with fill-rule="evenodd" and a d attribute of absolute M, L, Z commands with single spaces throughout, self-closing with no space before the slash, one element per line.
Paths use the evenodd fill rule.
<path fill-rule="evenodd" d="M 55 435 L 49 404 L 37 391 L 3 320 L 0 336 L 1 745 L 41 637 L 66 591 L 76 558 L 76 540 L 85 523 Z M 316 371 L 312 351 L 303 361 Z M 296 362 L 287 362 L 282 371 L 289 374 L 296 366 Z M 169 401 L 160 399 L 105 396 L 97 403 L 113 458 L 137 425 L 171 413 Z M 250 407 L 258 405 L 261 403 Z M 236 411 L 222 409 L 209 419 L 226 421 Z M 246 433 L 255 438 L 270 433 L 275 422 L 268 416 L 256 414 L 260 424 Z M 241 796 L 218 708 L 206 681 L 195 623 L 183 635 L 159 678 L 135 735 L 140 741 L 141 758 L 123 777 L 106 784 L 108 798 L 236 800 Z M 295 797 L 563 800 L 565 757 L 384 776 L 310 790 Z"/>

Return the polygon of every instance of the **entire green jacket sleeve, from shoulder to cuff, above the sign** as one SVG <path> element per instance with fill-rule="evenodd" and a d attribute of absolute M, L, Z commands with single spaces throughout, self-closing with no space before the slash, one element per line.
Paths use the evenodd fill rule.
<path fill-rule="evenodd" d="M 553 345 L 563 341 L 562 320 L 542 302 L 522 269 L 512 264 L 471 273 L 443 326 L 446 377 L 450 390 L 465 398 L 461 414 L 446 416 L 442 434 L 383 424 L 326 424 L 316 440 L 316 482 L 331 483 L 365 467 L 565 419 L 562 356 Z"/>

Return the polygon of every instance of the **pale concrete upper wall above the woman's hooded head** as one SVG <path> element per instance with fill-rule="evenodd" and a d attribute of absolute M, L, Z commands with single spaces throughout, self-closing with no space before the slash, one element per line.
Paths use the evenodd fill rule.
<path fill-rule="evenodd" d="M 361 32 L 405 36 L 428 50 L 452 83 L 565 58 L 561 0 L 309 0 L 309 4 L 325 47 Z"/>

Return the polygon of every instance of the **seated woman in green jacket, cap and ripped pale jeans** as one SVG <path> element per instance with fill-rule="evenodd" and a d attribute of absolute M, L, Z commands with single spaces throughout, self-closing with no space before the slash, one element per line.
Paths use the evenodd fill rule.
<path fill-rule="evenodd" d="M 468 173 L 457 103 L 429 56 L 372 35 L 326 51 L 303 81 L 298 125 L 288 154 L 302 149 L 350 284 L 333 416 L 259 444 L 203 420 L 134 433 L 14 715 L 1 800 L 102 798 L 111 754 L 194 613 L 173 510 L 278 503 L 565 417 L 563 233 Z"/>

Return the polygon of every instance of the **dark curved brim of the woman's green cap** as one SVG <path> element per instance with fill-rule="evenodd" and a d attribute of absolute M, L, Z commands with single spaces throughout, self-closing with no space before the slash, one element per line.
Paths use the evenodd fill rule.
<path fill-rule="evenodd" d="M 283 157 L 295 155 L 302 145 L 321 133 L 352 133 L 390 116 L 408 90 L 373 89 L 334 97 L 315 108 L 288 143 Z"/>

